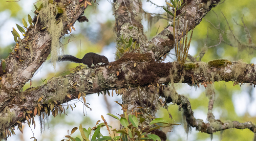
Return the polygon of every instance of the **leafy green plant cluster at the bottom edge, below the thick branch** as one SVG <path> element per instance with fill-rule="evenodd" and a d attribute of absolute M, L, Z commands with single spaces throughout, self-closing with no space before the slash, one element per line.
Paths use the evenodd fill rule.
<path fill-rule="evenodd" d="M 169 127 L 169 126 L 177 125 L 177 124 L 172 124 L 162 118 L 157 118 L 157 119 L 154 119 L 148 126 L 142 127 L 142 123 L 145 121 L 145 119 L 140 117 L 140 120 L 138 120 L 137 113 L 134 113 L 135 115 L 128 114 L 126 112 L 127 109 L 122 104 L 119 104 L 119 105 L 122 106 L 122 109 L 123 109 L 123 114 L 122 116 L 120 115 L 121 116 L 120 118 L 111 113 L 108 113 L 108 115 L 114 117 L 116 120 L 118 120 L 121 123 L 122 125 L 121 129 L 119 130 L 113 129 L 112 131 L 114 131 L 114 134 L 111 135 L 111 132 L 109 129 L 109 127 L 111 126 L 106 123 L 106 121 L 104 120 L 104 117 L 101 115 L 101 118 L 104 121 L 104 123 L 99 124 L 99 121 L 98 121 L 93 128 L 85 129 L 85 128 L 82 128 L 82 125 L 80 124 L 79 131 L 82 136 L 82 139 L 87 141 L 89 140 L 92 140 L 92 141 L 94 140 L 113 140 L 113 141 L 114 140 L 150 140 L 150 139 L 161 140 L 158 135 L 150 134 L 150 132 L 156 129 L 159 129 L 160 127 Z M 152 127 L 153 124 L 155 125 L 154 127 Z M 157 124 L 161 124 L 161 126 L 158 126 Z M 103 136 L 100 133 L 100 129 L 102 127 L 107 128 L 107 130 L 109 131 L 109 136 Z M 66 135 L 65 137 L 71 140 L 81 140 L 78 137 L 76 138 L 71 137 L 71 135 L 76 131 L 76 129 L 78 128 L 74 127 L 71 131 L 71 134 Z M 94 132 L 92 133 L 92 131 Z M 120 135 L 116 136 L 116 134 L 120 134 Z M 65 140 L 65 139 L 62 139 L 62 140 Z"/>

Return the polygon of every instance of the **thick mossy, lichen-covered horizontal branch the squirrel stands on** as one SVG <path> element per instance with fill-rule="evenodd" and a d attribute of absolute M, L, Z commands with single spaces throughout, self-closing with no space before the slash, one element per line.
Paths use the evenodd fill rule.
<path fill-rule="evenodd" d="M 147 86 L 156 83 L 182 82 L 190 85 L 202 83 L 207 87 L 207 84 L 211 82 L 224 80 L 234 81 L 234 84 L 256 84 L 255 66 L 242 61 L 215 60 L 208 64 L 200 62 L 180 66 L 177 62 L 156 62 L 153 59 L 148 59 L 150 56 L 149 53 L 129 53 L 118 61 L 96 69 L 81 69 L 67 76 L 52 78 L 45 85 L 25 90 L 23 96 L 26 100 L 18 102 L 16 106 L 34 109 L 40 97 L 45 100 L 40 102 L 41 105 L 50 101 L 57 101 L 58 104 L 61 104 L 76 99 L 80 92 L 88 95 L 103 90 Z M 67 97 L 68 94 L 71 95 L 71 98 Z M 15 100 L 10 103 L 13 102 Z M 16 109 L 16 106 L 9 106 L 10 111 L 15 112 L 15 116 L 11 120 L 12 123 L 20 119 L 18 115 L 24 110 Z"/>

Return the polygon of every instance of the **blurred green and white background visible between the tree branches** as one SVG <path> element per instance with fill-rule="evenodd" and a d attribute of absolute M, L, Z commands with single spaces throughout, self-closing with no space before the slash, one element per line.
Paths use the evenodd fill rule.
<path fill-rule="evenodd" d="M 31 17 L 33 17 L 32 10 L 34 10 L 33 3 L 35 2 L 35 0 L 21 0 L 12 3 L 0 1 L 0 59 L 6 59 L 9 52 L 11 52 L 12 46 L 15 45 L 11 34 L 12 27 L 16 28 L 15 23 L 22 26 L 22 18 L 27 20 L 27 14 L 30 14 Z M 166 5 L 164 1 L 156 0 L 152 2 L 160 6 Z M 88 7 L 84 12 L 84 15 L 89 19 L 89 22 L 76 22 L 74 25 L 76 31 L 72 31 L 72 35 L 69 34 L 61 38 L 61 43 L 64 46 L 63 54 L 71 54 L 81 58 L 88 52 L 95 52 L 105 55 L 110 61 L 114 61 L 116 44 L 115 33 L 113 31 L 115 21 L 114 16 L 112 15 L 112 5 L 109 1 L 102 0 L 97 1 L 97 3 L 99 5 L 93 3 L 93 6 Z M 40 2 L 36 3 L 37 6 L 39 6 L 39 4 Z M 255 6 L 255 0 L 226 0 L 223 4 L 213 8 L 205 16 L 205 19 L 203 19 L 195 28 L 189 54 L 197 57 L 202 50 L 206 50 L 207 52 L 202 58 L 202 61 L 204 62 L 221 58 L 230 61 L 242 59 L 244 62 L 256 64 L 255 52 L 253 49 L 235 48 L 225 43 L 221 43 L 208 49 L 205 47 L 219 43 L 220 31 L 215 28 L 219 24 L 220 29 L 225 31 L 223 39 L 229 43 L 234 43 L 228 40 L 230 39 L 230 34 L 228 34 L 229 27 L 222 13 L 229 22 L 229 26 L 234 35 L 236 35 L 236 37 L 243 43 L 249 44 L 246 39 L 245 29 L 239 26 L 243 25 L 241 21 L 241 18 L 243 17 L 244 23 L 250 32 L 252 43 L 255 43 Z M 143 8 L 146 12 L 166 14 L 164 13 L 164 10 L 146 2 L 146 0 L 143 1 Z M 148 39 L 156 36 L 168 25 L 168 21 L 165 19 L 157 21 L 153 20 L 150 22 L 147 21 L 148 19 L 151 18 L 145 16 L 142 21 Z M 239 25 L 237 25 L 235 21 Z M 153 23 L 152 27 L 149 26 L 150 23 Z M 171 51 L 165 59 L 165 62 L 174 61 L 174 59 L 172 59 L 176 58 L 172 55 L 174 53 L 174 51 Z M 74 68 L 77 65 L 78 64 L 71 62 L 60 62 L 56 66 L 56 70 L 54 70 L 49 62 L 45 62 L 33 77 L 32 86 L 41 85 L 43 83 L 41 79 L 49 80 L 56 75 L 69 74 L 70 72 L 66 70 Z M 195 117 L 207 122 L 208 98 L 205 95 L 205 88 L 203 86 L 200 86 L 200 88 L 191 87 L 187 84 L 175 84 L 175 86 L 179 94 L 189 98 Z M 256 123 L 256 91 L 253 86 L 250 86 L 249 84 L 233 86 L 233 82 L 215 82 L 214 86 L 216 89 L 216 99 L 213 112 L 216 119 L 220 119 L 222 122 L 236 120 L 239 122 L 251 121 Z M 30 87 L 30 85 L 26 84 L 24 90 L 28 87 Z M 49 119 L 45 121 L 46 129 L 42 132 L 42 135 L 40 135 L 38 123 L 36 129 L 33 129 L 33 132 L 27 125 L 25 125 L 24 134 L 20 134 L 17 131 L 17 135 L 9 137 L 8 140 L 29 140 L 29 138 L 33 136 L 33 133 L 38 140 L 61 140 L 64 135 L 67 135 L 67 130 L 71 131 L 73 127 L 78 127 L 80 123 L 86 128 L 93 127 L 96 121 L 101 119 L 101 114 L 104 117 L 106 116 L 105 119 L 110 125 L 119 129 L 119 123 L 116 123 L 114 119 L 108 118 L 106 115 L 106 113 L 121 114 L 120 107 L 118 107 L 114 101 L 119 101 L 121 103 L 121 97 L 114 96 L 112 98 L 102 95 L 100 97 L 96 95 L 89 96 L 87 97 L 87 102 L 91 104 L 90 107 L 92 108 L 92 111 L 88 108 L 84 108 L 78 100 L 73 101 L 73 103 L 76 103 L 77 105 L 77 107 L 74 108 L 74 111 L 69 108 L 67 110 L 68 116 L 65 114 L 62 114 L 60 117 L 56 116 L 55 118 L 50 116 Z M 71 103 L 72 102 L 69 104 Z M 167 110 L 163 108 L 160 108 L 157 116 L 165 117 L 166 120 L 183 125 L 175 126 L 172 129 L 163 129 L 167 132 L 167 138 L 169 140 L 210 140 L 210 135 L 195 131 L 194 128 L 191 128 L 189 133 L 186 134 L 182 112 L 178 111 L 177 105 L 170 104 L 168 106 L 168 112 L 172 115 L 173 119 L 169 118 Z M 85 113 L 86 116 L 83 116 L 83 113 Z M 47 129 L 48 125 L 49 129 Z M 107 134 L 108 133 L 105 135 Z M 222 140 L 252 140 L 253 133 L 248 129 L 228 129 L 224 132 L 214 133 L 212 140 L 221 140 L 221 138 Z"/>

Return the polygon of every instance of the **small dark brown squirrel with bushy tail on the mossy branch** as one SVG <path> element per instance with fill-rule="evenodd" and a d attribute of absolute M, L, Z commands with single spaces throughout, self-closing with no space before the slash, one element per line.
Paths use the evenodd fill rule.
<path fill-rule="evenodd" d="M 96 53 L 87 53 L 86 55 L 83 56 L 82 59 L 76 58 L 75 56 L 72 55 L 63 55 L 59 56 L 57 62 L 60 61 L 71 61 L 75 63 L 83 63 L 88 65 L 88 67 L 93 68 L 92 64 L 96 66 L 98 63 L 105 63 L 108 64 L 109 60 L 103 55 L 98 55 Z"/>

